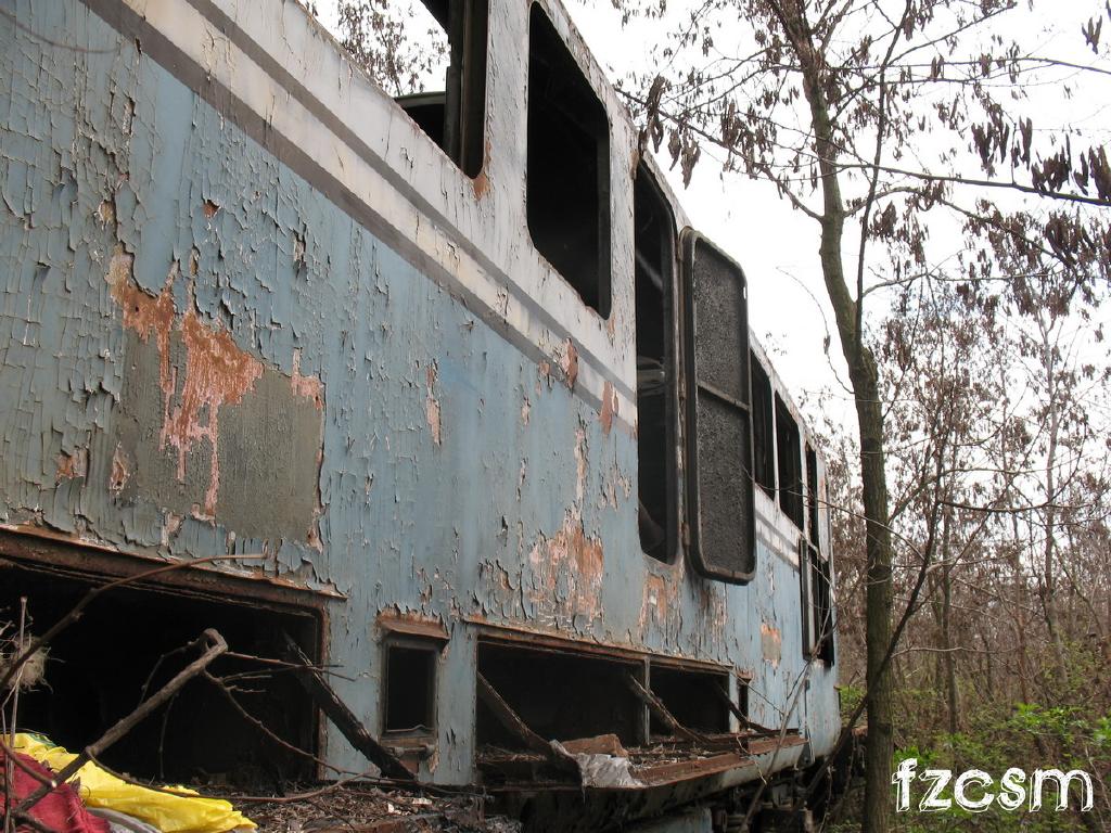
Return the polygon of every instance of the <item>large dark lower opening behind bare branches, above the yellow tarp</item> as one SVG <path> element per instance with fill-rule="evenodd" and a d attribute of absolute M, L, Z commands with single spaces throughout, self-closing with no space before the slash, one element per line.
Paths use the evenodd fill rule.
<path fill-rule="evenodd" d="M 16 621 L 19 599 L 27 596 L 28 631 L 41 634 L 101 583 L 68 570 L 4 566 L 0 623 Z M 213 584 L 218 586 L 227 592 Z M 53 639 L 42 682 L 20 693 L 20 729 L 79 751 L 136 709 L 144 684 L 152 694 L 196 660 L 199 650 L 174 652 L 209 628 L 219 631 L 236 653 L 284 659 L 286 632 L 306 655 L 319 658 L 318 620 L 306 611 L 271 608 L 253 599 L 213 601 L 180 588 L 121 586 L 92 602 L 80 622 Z M 272 669 L 232 656 L 209 665 L 217 676 L 268 670 Z M 246 712 L 286 743 L 316 751 L 317 709 L 292 674 L 252 676 L 233 694 Z M 172 701 L 101 757 L 118 772 L 170 783 L 269 790 L 282 781 L 314 775 L 311 761 L 260 732 L 203 678 L 186 683 Z"/>

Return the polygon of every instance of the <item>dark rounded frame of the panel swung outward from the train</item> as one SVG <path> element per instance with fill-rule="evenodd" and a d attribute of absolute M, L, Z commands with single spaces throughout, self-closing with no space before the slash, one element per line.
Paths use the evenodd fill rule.
<path fill-rule="evenodd" d="M 711 579 L 743 584 L 752 580 L 755 575 L 757 546 L 755 546 L 755 506 L 754 489 L 755 481 L 752 476 L 752 391 L 749 365 L 749 322 L 748 322 L 748 285 L 744 271 L 741 267 L 725 254 L 721 249 L 711 243 L 702 234 L 693 229 L 687 228 L 680 235 L 680 248 L 682 250 L 682 325 L 683 325 L 683 350 L 684 350 L 684 390 L 685 399 L 685 423 L 687 423 L 687 545 L 694 569 Z M 713 318 L 710 311 L 721 311 L 723 308 L 708 303 L 705 307 L 707 321 L 700 323 L 699 301 L 703 297 L 700 293 L 697 272 L 699 271 L 700 251 L 708 253 L 708 261 L 717 260 L 718 268 L 731 273 L 732 281 L 739 291 L 735 292 L 737 309 L 732 311 L 732 320 L 729 321 L 729 311 L 724 310 L 725 322 L 718 317 L 718 329 L 707 327 Z M 723 285 L 721 281 L 719 285 Z M 710 281 L 707 282 L 710 285 Z M 709 290 L 708 290 L 709 291 Z M 708 298 L 709 302 L 710 299 Z M 700 337 L 700 327 L 702 334 Z M 718 338 L 722 334 L 732 335 L 735 352 L 732 361 L 735 362 L 730 370 L 739 373 L 740 379 L 731 380 L 728 385 L 730 390 L 714 378 L 712 381 L 704 378 L 711 374 L 712 364 L 708 362 L 704 373 L 700 370 L 701 359 L 713 359 L 719 355 L 719 350 L 707 349 L 700 354 L 700 344 L 705 343 L 707 337 Z M 728 341 L 728 339 L 727 339 Z M 718 365 L 717 370 L 721 371 Z M 739 421 L 735 426 L 741 434 L 735 443 L 738 451 L 737 459 L 720 460 L 713 454 L 708 454 L 707 460 L 701 459 L 703 445 L 711 441 L 709 431 L 703 433 L 700 428 L 700 405 L 701 403 L 713 402 L 719 409 L 732 412 Z M 707 410 L 710 413 L 711 409 Z M 728 439 L 728 438 L 727 438 Z M 731 473 L 723 473 L 720 469 L 703 465 L 703 462 L 714 464 L 722 463 L 729 468 L 734 466 Z M 705 471 L 709 469 L 709 471 Z M 720 488 L 734 486 L 737 501 L 729 505 L 722 505 L 720 495 L 713 494 L 712 500 L 707 500 L 710 493 L 704 492 L 702 475 L 705 473 L 714 480 L 714 485 Z M 717 476 L 714 476 L 717 475 Z M 715 513 L 715 518 L 708 519 L 705 511 L 710 508 L 710 513 Z M 739 521 L 739 530 L 733 546 L 725 546 L 720 536 L 707 535 L 705 522 L 713 525 L 714 521 L 722 522 L 724 518 L 733 518 Z M 709 540 L 708 540 L 709 539 Z M 718 546 L 711 550 L 711 543 Z M 730 564 L 729 562 L 733 563 Z"/>

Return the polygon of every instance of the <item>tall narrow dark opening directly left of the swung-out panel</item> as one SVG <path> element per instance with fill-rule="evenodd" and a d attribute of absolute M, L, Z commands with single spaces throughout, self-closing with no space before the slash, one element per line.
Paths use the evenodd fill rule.
<path fill-rule="evenodd" d="M 649 170 L 633 184 L 637 287 L 637 456 L 641 549 L 675 551 L 674 222 Z"/>

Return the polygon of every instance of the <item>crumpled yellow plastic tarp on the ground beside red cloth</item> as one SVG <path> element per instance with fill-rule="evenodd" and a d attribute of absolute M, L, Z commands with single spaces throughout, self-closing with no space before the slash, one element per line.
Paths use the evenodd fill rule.
<path fill-rule="evenodd" d="M 17 734 L 14 749 L 54 772 L 77 757 L 42 735 Z M 87 806 L 127 813 L 162 833 L 226 833 L 237 827 L 257 826 L 222 799 L 202 799 L 183 786 L 172 787 L 179 795 L 136 786 L 110 775 L 91 761 L 70 779 L 74 780 L 81 782 L 79 793 Z"/>

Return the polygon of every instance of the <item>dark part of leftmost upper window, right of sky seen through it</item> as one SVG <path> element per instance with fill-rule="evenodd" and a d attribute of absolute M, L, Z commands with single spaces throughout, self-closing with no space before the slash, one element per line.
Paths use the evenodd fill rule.
<path fill-rule="evenodd" d="M 443 89 L 396 101 L 421 130 L 474 178 L 484 162 L 487 0 L 423 0 L 447 37 Z"/>

